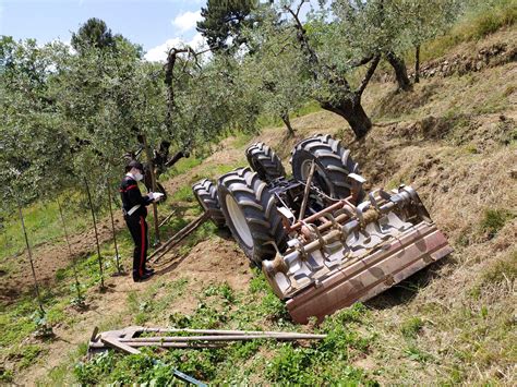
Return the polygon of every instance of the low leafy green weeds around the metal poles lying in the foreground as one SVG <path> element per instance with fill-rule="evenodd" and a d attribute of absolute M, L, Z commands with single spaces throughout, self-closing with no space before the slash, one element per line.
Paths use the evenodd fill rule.
<path fill-rule="evenodd" d="M 249 291 L 236 291 L 227 282 L 212 283 L 199 293 L 199 303 L 191 314 L 173 312 L 169 314 L 169 325 L 188 328 L 217 329 L 270 329 L 297 330 L 285 314 L 285 305 L 273 302 L 275 295 L 265 286 L 262 274 L 256 273 Z M 159 286 L 141 298 L 131 293 L 128 298 L 130 311 L 146 303 L 147 315 L 156 318 L 156 304 L 163 302 L 156 294 Z M 167 287 L 167 293 L 175 291 L 176 285 Z M 159 312 L 163 313 L 163 312 Z M 268 318 L 281 314 L 282 319 Z M 267 326 L 258 323 L 267 321 Z M 223 349 L 170 350 L 141 355 L 120 358 L 109 353 L 81 363 L 76 368 L 80 383 L 145 383 L 160 377 L 164 367 L 173 367 L 213 384 L 242 384 L 253 375 L 263 383 L 296 384 L 374 384 L 360 368 L 350 364 L 359 354 L 368 352 L 373 335 L 357 330 L 368 323 L 370 316 L 362 304 L 357 304 L 325 319 L 318 329 L 328 337 L 304 347 L 299 343 L 281 343 L 272 340 L 252 340 L 231 343 Z M 188 335 L 188 334 L 185 334 Z M 151 361 L 149 359 L 155 361 Z M 170 374 L 169 374 L 170 375 Z M 255 379 L 256 380 L 256 379 Z"/>

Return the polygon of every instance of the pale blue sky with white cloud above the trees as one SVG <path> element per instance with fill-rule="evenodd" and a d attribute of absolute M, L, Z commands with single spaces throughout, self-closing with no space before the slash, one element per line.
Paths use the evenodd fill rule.
<path fill-rule="evenodd" d="M 89 17 L 104 20 L 113 33 L 140 44 L 149 60 L 165 59 L 167 47 L 203 39 L 195 31 L 205 0 L 0 0 L 0 35 L 15 39 L 70 41 Z"/>

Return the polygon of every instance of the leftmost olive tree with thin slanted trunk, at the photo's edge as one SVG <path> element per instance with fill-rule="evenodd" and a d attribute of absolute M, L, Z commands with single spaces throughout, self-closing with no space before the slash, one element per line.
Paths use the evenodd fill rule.
<path fill-rule="evenodd" d="M 38 47 L 28 39 L 16 43 L 0 38 L 0 196 L 2 210 L 17 210 L 31 263 L 39 310 L 37 275 L 25 228 L 23 207 L 60 192 L 70 147 L 56 117 L 56 104 L 48 84 L 55 76 L 53 51 L 60 47 Z"/>

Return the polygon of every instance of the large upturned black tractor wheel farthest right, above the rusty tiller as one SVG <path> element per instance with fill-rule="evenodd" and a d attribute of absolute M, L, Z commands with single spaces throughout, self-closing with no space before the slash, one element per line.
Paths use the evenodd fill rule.
<path fill-rule="evenodd" d="M 312 162 L 315 162 L 313 183 L 334 198 L 350 195 L 349 173 L 359 173 L 359 166 L 339 141 L 330 135 L 315 135 L 299 142 L 291 152 L 294 179 L 306 181 Z"/>

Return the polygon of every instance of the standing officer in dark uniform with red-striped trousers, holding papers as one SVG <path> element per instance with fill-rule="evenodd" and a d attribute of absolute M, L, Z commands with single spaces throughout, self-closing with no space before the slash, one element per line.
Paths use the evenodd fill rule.
<path fill-rule="evenodd" d="M 147 208 L 145 207 L 154 201 L 158 201 L 161 195 L 149 192 L 142 196 L 139 181 L 144 178 L 144 166 L 141 162 L 132 160 L 125 167 L 125 171 L 127 173 L 120 184 L 120 195 L 125 223 L 134 241 L 133 280 L 140 282 L 154 274 L 153 269 L 145 267 L 148 245 L 147 222 L 145 221 Z"/>

